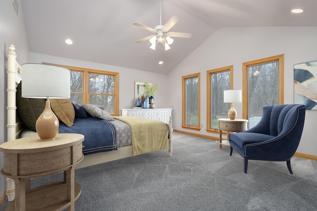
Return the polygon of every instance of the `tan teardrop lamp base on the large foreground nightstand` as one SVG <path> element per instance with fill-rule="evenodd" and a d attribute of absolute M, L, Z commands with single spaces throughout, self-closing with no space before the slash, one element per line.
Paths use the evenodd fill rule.
<path fill-rule="evenodd" d="M 37 119 L 35 128 L 41 141 L 55 139 L 59 128 L 59 121 L 51 109 L 50 101 L 46 102 L 45 109 Z"/>

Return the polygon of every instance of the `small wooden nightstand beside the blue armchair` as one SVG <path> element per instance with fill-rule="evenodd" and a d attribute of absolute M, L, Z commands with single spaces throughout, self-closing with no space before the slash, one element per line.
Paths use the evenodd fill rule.
<path fill-rule="evenodd" d="M 227 139 L 229 139 L 229 132 L 241 132 L 248 129 L 248 120 L 247 119 L 218 119 L 218 128 L 219 128 L 219 146 L 220 149 L 222 145 L 230 146 L 229 140 L 222 140 L 222 130 L 227 131 Z"/>

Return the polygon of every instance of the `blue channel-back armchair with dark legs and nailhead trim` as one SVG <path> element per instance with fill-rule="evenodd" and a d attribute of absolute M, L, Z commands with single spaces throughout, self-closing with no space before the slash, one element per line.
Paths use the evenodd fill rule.
<path fill-rule="evenodd" d="M 236 150 L 244 158 L 244 172 L 248 160 L 286 161 L 293 174 L 291 158 L 299 145 L 304 121 L 304 105 L 264 106 L 260 122 L 253 128 L 229 135 L 230 156 Z"/>

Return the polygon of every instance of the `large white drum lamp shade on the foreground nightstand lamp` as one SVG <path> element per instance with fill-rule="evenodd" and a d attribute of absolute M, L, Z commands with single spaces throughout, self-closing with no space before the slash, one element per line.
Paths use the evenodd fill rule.
<path fill-rule="evenodd" d="M 47 65 L 22 64 L 23 98 L 70 98 L 69 69 Z"/>

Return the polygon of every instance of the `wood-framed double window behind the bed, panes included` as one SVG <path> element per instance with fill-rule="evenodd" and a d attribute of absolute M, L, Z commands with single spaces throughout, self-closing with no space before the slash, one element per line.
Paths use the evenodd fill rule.
<path fill-rule="evenodd" d="M 119 73 L 64 65 L 56 66 L 70 70 L 71 102 L 103 106 L 111 115 L 119 115 Z"/>

